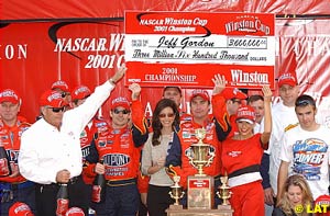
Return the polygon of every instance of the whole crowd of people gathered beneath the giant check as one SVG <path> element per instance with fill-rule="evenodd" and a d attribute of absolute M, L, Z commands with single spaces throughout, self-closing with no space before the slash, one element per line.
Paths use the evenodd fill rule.
<path fill-rule="evenodd" d="M 166 215 L 174 177 L 186 191 L 188 177 L 198 172 L 189 157 L 199 128 L 215 156 L 204 168 L 213 177 L 213 207 L 222 203 L 216 193 L 221 175 L 229 178 L 234 216 L 308 215 L 297 206 L 307 209 L 329 194 L 330 130 L 316 122 L 316 102 L 300 94 L 292 73 L 278 78 L 280 102 L 274 105 L 268 86 L 248 96 L 216 75 L 212 95 L 191 91 L 190 113 L 180 109 L 182 89 L 167 86 L 146 120 L 144 95 L 133 83 L 131 99 L 113 96 L 109 120 L 100 117 L 99 107 L 125 71 L 122 66 L 94 92 L 55 81 L 41 95 L 33 124 L 19 115 L 14 90 L 0 92 L 0 146 L 11 170 L 0 172 L 1 215 L 56 215 L 59 184 L 68 187 L 67 215 Z M 103 175 L 106 194 L 92 202 L 97 175 Z"/>

